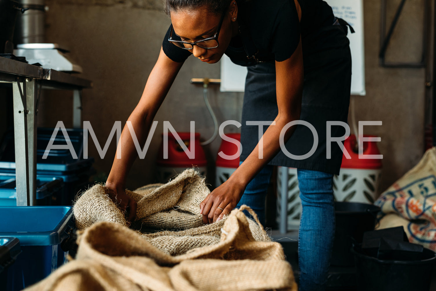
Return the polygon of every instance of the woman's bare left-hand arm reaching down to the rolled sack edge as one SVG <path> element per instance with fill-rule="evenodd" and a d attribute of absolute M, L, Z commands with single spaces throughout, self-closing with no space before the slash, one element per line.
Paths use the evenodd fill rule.
<path fill-rule="evenodd" d="M 140 145 L 145 143 L 153 118 L 182 65 L 182 62 L 172 61 L 165 55 L 163 49 L 160 49 L 159 58 L 148 77 L 141 99 L 128 119 L 132 122 Z M 112 201 L 119 208 L 127 211 L 128 221 L 131 222 L 136 216 L 136 201 L 126 194 L 126 176 L 137 154 L 127 125 L 123 128 L 116 149 L 117 153 L 119 151 L 121 151 L 121 159 L 117 159 L 115 156 L 112 169 L 106 180 L 106 187 L 112 190 L 109 195 Z"/>

